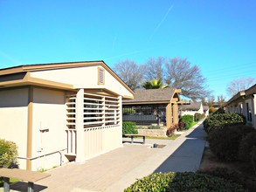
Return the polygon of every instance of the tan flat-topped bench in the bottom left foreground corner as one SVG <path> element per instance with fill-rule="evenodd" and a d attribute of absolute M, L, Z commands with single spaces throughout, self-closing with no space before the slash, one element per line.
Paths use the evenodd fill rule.
<path fill-rule="evenodd" d="M 10 178 L 28 182 L 28 191 L 34 191 L 34 182 L 45 179 L 46 177 L 51 176 L 46 173 L 39 173 L 37 171 L 29 171 L 18 168 L 0 168 L 0 177 L 3 177 L 3 191 L 10 191 Z"/>

